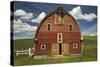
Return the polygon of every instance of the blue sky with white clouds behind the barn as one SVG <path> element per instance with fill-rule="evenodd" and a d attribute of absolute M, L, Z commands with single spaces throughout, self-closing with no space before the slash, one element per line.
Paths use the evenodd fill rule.
<path fill-rule="evenodd" d="M 13 7 L 14 39 L 33 38 L 40 21 L 57 7 L 64 8 L 77 20 L 83 35 L 97 34 L 96 6 L 15 1 Z"/>

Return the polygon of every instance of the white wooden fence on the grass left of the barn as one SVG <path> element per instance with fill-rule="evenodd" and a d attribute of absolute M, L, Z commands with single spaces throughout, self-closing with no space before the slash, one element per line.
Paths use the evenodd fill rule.
<path fill-rule="evenodd" d="M 17 50 L 16 56 L 19 56 L 19 55 L 29 55 L 29 57 L 30 57 L 30 56 L 34 55 L 34 48 L 29 48 L 29 49 L 25 49 L 25 50 Z"/>

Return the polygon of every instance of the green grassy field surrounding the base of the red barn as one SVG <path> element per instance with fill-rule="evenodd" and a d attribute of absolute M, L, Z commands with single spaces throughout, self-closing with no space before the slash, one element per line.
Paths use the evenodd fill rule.
<path fill-rule="evenodd" d="M 64 56 L 63 58 L 45 58 L 34 59 L 27 55 L 15 56 L 15 51 L 18 49 L 26 49 L 34 47 L 33 39 L 23 39 L 14 41 L 14 65 L 34 65 L 34 64 L 51 64 L 51 63 L 69 63 L 69 62 L 84 62 L 97 60 L 97 37 L 85 36 L 84 37 L 84 54 Z"/>

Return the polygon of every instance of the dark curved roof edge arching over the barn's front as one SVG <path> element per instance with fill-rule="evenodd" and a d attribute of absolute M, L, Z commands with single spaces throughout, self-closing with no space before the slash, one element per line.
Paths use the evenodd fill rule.
<path fill-rule="evenodd" d="M 42 24 L 44 23 L 44 21 L 45 21 L 49 16 L 51 16 L 52 14 L 54 14 L 55 12 L 63 12 L 63 13 L 65 13 L 66 15 L 70 16 L 70 17 L 76 22 L 76 20 L 74 19 L 74 17 L 73 17 L 71 14 L 69 14 L 67 11 L 65 11 L 62 7 L 58 7 L 56 10 L 54 10 L 53 12 L 51 12 L 51 13 L 49 13 L 47 16 L 45 16 L 45 17 L 43 18 L 43 20 L 40 22 L 40 24 L 38 25 L 38 28 L 37 28 L 37 30 L 36 30 L 35 38 L 36 38 L 36 36 L 37 36 L 37 33 L 38 33 L 40 27 L 41 27 Z M 76 22 L 76 24 L 77 24 L 77 22 Z"/>

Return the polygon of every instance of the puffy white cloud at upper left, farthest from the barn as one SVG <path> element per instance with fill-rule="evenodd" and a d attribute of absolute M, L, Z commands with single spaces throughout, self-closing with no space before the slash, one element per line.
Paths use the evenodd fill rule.
<path fill-rule="evenodd" d="M 14 15 L 15 16 L 21 16 L 22 19 L 26 19 L 26 20 L 29 20 L 29 19 L 32 19 L 33 18 L 33 14 L 32 13 L 28 13 L 22 9 L 18 9 L 14 12 Z"/>

